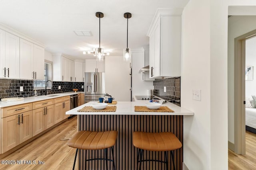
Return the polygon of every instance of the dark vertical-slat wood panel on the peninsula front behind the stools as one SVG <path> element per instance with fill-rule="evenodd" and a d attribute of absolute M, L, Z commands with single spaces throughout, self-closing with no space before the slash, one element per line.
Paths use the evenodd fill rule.
<path fill-rule="evenodd" d="M 183 116 L 179 115 L 80 115 L 79 130 L 90 131 L 118 131 L 116 145 L 114 146 L 114 158 L 117 170 L 136 169 L 137 149 L 132 145 L 132 132 L 164 132 L 171 131 L 183 144 Z M 106 163 L 103 160 L 90 161 L 86 158 L 104 157 L 103 150 L 84 150 L 79 152 L 79 168 L 88 170 L 105 170 Z M 112 159 L 111 150 L 108 149 L 108 158 Z M 164 160 L 164 152 L 144 151 L 144 159 Z M 182 169 L 183 147 L 174 151 L 176 169 Z M 171 155 L 168 152 L 169 169 L 173 169 Z M 108 161 L 108 168 L 112 169 L 112 162 Z M 162 170 L 164 164 L 158 162 L 144 162 L 142 169 Z"/>

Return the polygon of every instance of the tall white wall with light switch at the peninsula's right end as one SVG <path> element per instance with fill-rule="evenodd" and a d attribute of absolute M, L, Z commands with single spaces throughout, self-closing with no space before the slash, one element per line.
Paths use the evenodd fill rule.
<path fill-rule="evenodd" d="M 210 2 L 190 0 L 182 13 L 181 106 L 184 116 L 184 163 L 188 169 L 210 169 Z M 201 101 L 192 100 L 201 90 Z"/>

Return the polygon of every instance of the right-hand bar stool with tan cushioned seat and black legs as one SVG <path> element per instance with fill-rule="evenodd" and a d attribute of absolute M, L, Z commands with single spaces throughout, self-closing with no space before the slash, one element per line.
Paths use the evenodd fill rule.
<path fill-rule="evenodd" d="M 182 144 L 179 139 L 171 132 L 160 133 L 147 133 L 147 132 L 133 132 L 133 145 L 138 148 L 137 154 L 137 170 L 141 169 L 141 162 L 155 161 L 166 164 L 166 170 L 168 170 L 168 154 L 167 151 L 171 151 L 172 163 L 175 170 L 173 151 L 180 149 Z M 143 151 L 164 151 L 164 161 L 162 160 L 142 160 Z M 140 166 L 139 166 L 140 162 Z"/>

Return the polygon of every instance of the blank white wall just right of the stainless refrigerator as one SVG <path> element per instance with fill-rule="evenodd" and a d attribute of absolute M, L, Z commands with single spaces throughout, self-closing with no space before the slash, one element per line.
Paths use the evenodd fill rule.
<path fill-rule="evenodd" d="M 130 101 L 130 63 L 123 56 L 106 56 L 105 59 L 106 93 L 116 101 Z"/>

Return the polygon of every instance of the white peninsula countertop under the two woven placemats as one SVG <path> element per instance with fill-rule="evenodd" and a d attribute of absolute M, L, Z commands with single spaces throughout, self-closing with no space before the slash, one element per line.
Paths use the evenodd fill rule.
<path fill-rule="evenodd" d="M 134 106 L 145 106 L 148 101 L 136 101 L 136 102 L 117 102 L 115 112 L 78 112 L 77 110 L 82 109 L 84 106 L 92 106 L 93 103 L 88 102 L 81 106 L 78 106 L 70 111 L 67 111 L 67 115 L 194 115 L 194 112 L 184 109 L 182 107 L 176 106 L 169 102 L 165 102 L 162 106 L 167 106 L 174 112 L 137 112 L 134 111 Z"/>

